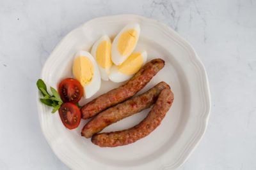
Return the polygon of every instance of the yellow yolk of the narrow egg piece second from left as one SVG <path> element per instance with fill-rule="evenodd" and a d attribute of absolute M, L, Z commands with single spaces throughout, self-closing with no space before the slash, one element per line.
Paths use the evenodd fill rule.
<path fill-rule="evenodd" d="M 102 68 L 110 68 L 112 66 L 111 43 L 109 41 L 100 42 L 96 50 L 96 60 Z"/>

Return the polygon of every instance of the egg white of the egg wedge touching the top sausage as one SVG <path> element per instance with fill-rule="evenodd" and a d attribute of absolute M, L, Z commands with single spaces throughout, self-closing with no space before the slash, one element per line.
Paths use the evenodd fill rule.
<path fill-rule="evenodd" d="M 143 58 L 143 64 L 141 65 L 141 67 L 143 67 L 143 65 L 147 62 L 147 52 L 143 51 L 143 52 L 138 52 L 141 53 L 141 56 Z M 136 74 L 136 73 L 135 73 Z M 110 69 L 110 74 L 109 74 L 109 80 L 116 82 L 116 83 L 120 83 L 126 80 L 129 80 L 130 78 L 132 78 L 134 74 L 124 74 L 120 71 L 118 71 L 117 66 L 113 65 Z"/>

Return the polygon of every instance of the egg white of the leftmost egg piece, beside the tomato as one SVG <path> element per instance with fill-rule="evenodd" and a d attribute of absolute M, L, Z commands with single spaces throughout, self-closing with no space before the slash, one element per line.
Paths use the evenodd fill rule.
<path fill-rule="evenodd" d="M 97 62 L 95 59 L 92 57 L 92 55 L 89 52 L 86 51 L 79 51 L 76 53 L 76 57 L 87 57 L 88 59 L 91 60 L 92 65 L 93 65 L 93 77 L 92 81 L 90 83 L 84 85 L 84 97 L 86 99 L 90 98 L 95 94 L 99 89 L 101 85 L 101 80 L 100 80 L 100 72 L 99 72 L 99 67 L 97 65 Z"/>

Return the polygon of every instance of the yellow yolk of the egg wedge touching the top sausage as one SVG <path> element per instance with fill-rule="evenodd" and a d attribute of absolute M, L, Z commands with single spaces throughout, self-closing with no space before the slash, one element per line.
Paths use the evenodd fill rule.
<path fill-rule="evenodd" d="M 139 71 L 143 64 L 143 57 L 141 53 L 132 53 L 125 62 L 117 66 L 118 71 L 121 73 L 131 75 Z"/>

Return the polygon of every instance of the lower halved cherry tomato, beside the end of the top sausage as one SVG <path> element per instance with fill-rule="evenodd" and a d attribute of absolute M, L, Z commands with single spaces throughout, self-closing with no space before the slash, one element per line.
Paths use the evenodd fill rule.
<path fill-rule="evenodd" d="M 81 120 L 81 111 L 74 103 L 63 103 L 59 109 L 61 122 L 68 129 L 75 129 Z"/>

